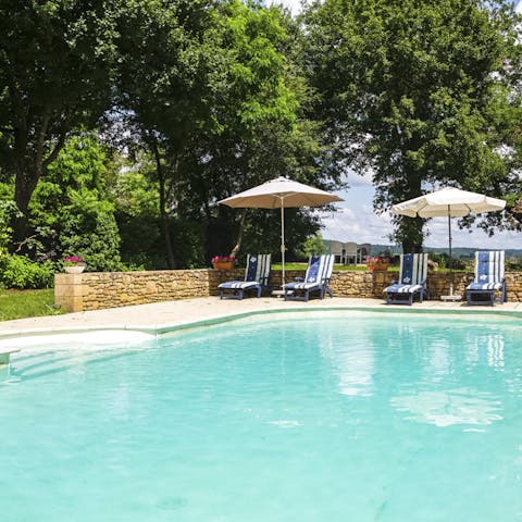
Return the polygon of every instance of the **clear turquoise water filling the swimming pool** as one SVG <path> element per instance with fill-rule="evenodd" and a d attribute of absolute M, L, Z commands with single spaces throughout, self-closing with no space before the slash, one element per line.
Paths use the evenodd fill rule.
<path fill-rule="evenodd" d="M 21 352 L 2 521 L 522 520 L 521 340 L 512 319 L 300 313 Z"/>

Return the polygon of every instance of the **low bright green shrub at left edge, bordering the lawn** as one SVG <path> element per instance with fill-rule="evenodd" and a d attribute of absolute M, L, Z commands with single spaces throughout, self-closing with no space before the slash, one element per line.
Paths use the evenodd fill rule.
<path fill-rule="evenodd" d="M 53 281 L 50 262 L 35 263 L 25 256 L 0 258 L 0 283 L 5 288 L 49 288 Z"/>

